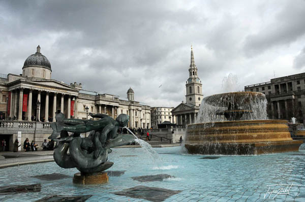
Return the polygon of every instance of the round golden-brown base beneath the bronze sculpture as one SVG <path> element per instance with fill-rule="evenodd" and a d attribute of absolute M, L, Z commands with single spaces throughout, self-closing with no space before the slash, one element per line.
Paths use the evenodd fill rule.
<path fill-rule="evenodd" d="M 81 173 L 74 174 L 73 183 L 75 184 L 104 184 L 109 181 L 107 173 L 102 172 L 95 175 L 83 175 Z"/>

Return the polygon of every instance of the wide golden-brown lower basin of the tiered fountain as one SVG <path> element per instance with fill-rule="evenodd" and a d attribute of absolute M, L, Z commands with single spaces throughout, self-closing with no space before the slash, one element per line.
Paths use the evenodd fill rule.
<path fill-rule="evenodd" d="M 256 155 L 298 151 L 286 120 L 246 120 L 188 125 L 185 147 L 191 154 Z"/>

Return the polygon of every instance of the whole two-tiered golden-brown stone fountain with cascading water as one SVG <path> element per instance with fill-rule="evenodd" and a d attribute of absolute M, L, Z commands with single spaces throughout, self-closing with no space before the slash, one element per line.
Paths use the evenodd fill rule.
<path fill-rule="evenodd" d="M 268 120 L 259 92 L 229 92 L 202 100 L 199 123 L 187 126 L 191 154 L 252 155 L 298 151 L 286 120 Z"/>

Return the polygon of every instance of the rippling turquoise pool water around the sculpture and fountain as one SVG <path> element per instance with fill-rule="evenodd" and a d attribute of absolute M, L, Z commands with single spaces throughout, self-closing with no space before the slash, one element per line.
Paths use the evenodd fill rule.
<path fill-rule="evenodd" d="M 181 191 L 165 201 L 305 201 L 305 150 L 210 158 L 214 156 L 184 154 L 180 147 L 155 149 L 162 160 L 160 167 L 141 148 L 113 149 L 108 160 L 114 165 L 109 171 L 125 173 L 117 177 L 110 176 L 109 183 L 103 185 L 75 185 L 72 178 L 78 171 L 62 169 L 55 162 L 1 169 L 0 186 L 40 183 L 41 191 L 0 195 L 0 201 L 36 201 L 52 194 L 92 195 L 86 201 L 147 201 L 111 193 L 136 186 Z M 32 177 L 52 173 L 65 174 L 69 178 L 50 181 Z M 132 179 L 158 174 L 167 174 L 173 178 L 153 182 Z M 289 191 L 286 184 L 289 185 Z M 276 195 L 281 188 L 281 194 Z"/>

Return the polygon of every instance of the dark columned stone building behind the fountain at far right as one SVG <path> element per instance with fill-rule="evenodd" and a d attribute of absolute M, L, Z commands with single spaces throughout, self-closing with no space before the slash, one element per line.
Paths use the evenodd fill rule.
<path fill-rule="evenodd" d="M 268 117 L 305 123 L 305 73 L 271 79 L 269 82 L 245 86 L 245 91 L 266 95 Z"/>

